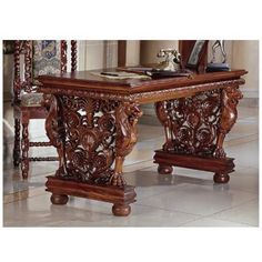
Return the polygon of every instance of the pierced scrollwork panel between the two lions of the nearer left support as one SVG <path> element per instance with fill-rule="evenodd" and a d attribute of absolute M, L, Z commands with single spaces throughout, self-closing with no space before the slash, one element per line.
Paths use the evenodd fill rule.
<path fill-rule="evenodd" d="M 115 154 L 118 102 L 60 95 L 68 179 L 109 183 Z"/>

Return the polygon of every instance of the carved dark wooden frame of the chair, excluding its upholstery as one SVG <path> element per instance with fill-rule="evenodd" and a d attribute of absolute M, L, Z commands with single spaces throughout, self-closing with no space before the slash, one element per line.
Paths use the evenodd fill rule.
<path fill-rule="evenodd" d="M 13 112 L 14 112 L 14 147 L 13 147 L 13 164 L 18 167 L 21 163 L 22 177 L 28 178 L 29 161 L 54 161 L 58 158 L 29 158 L 30 147 L 50 147 L 47 142 L 29 142 L 29 122 L 30 119 L 46 119 L 48 111 L 46 104 L 41 107 L 21 105 L 21 92 L 36 92 L 36 81 L 32 77 L 32 53 L 33 41 L 16 40 L 14 41 L 14 78 L 13 78 Z M 77 41 L 71 41 L 71 69 L 77 69 Z M 24 56 L 24 74 L 20 73 L 20 58 Z M 67 72 L 67 41 L 61 40 L 61 72 Z M 21 129 L 22 127 L 22 129 Z M 20 137 L 20 132 L 22 135 Z"/>

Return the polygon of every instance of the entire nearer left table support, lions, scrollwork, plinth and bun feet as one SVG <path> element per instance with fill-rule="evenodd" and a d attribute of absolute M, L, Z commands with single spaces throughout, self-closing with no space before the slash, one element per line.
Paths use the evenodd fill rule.
<path fill-rule="evenodd" d="M 46 129 L 60 160 L 46 183 L 52 203 L 66 204 L 74 195 L 113 203 L 114 215 L 128 215 L 135 192 L 125 184 L 122 165 L 137 142 L 141 111 L 129 102 L 62 94 L 50 101 Z"/>

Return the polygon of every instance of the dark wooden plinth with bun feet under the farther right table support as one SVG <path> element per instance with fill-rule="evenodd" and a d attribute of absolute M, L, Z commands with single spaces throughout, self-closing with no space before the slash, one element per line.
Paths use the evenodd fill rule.
<path fill-rule="evenodd" d="M 210 171 L 214 172 L 213 180 L 215 183 L 229 182 L 229 173 L 234 171 L 233 160 L 234 159 L 231 158 L 215 159 L 208 157 L 204 158 L 189 154 L 179 154 L 172 151 L 167 152 L 163 150 L 157 150 L 154 154 L 154 163 L 159 164 L 158 170 L 160 173 L 169 173 L 173 165 Z"/>

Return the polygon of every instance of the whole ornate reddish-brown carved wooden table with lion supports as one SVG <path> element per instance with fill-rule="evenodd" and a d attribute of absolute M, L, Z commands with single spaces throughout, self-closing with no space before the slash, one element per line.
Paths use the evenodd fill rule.
<path fill-rule="evenodd" d="M 47 134 L 59 153 L 59 169 L 48 177 L 53 204 L 68 195 L 113 203 L 114 215 L 128 215 L 134 187 L 123 178 L 124 158 L 137 142 L 139 105 L 154 102 L 165 143 L 155 151 L 158 171 L 172 167 L 214 173 L 226 183 L 234 163 L 223 150 L 225 134 L 235 123 L 244 70 L 161 80 L 112 80 L 90 71 L 41 75 L 39 90 L 47 99 Z"/>

